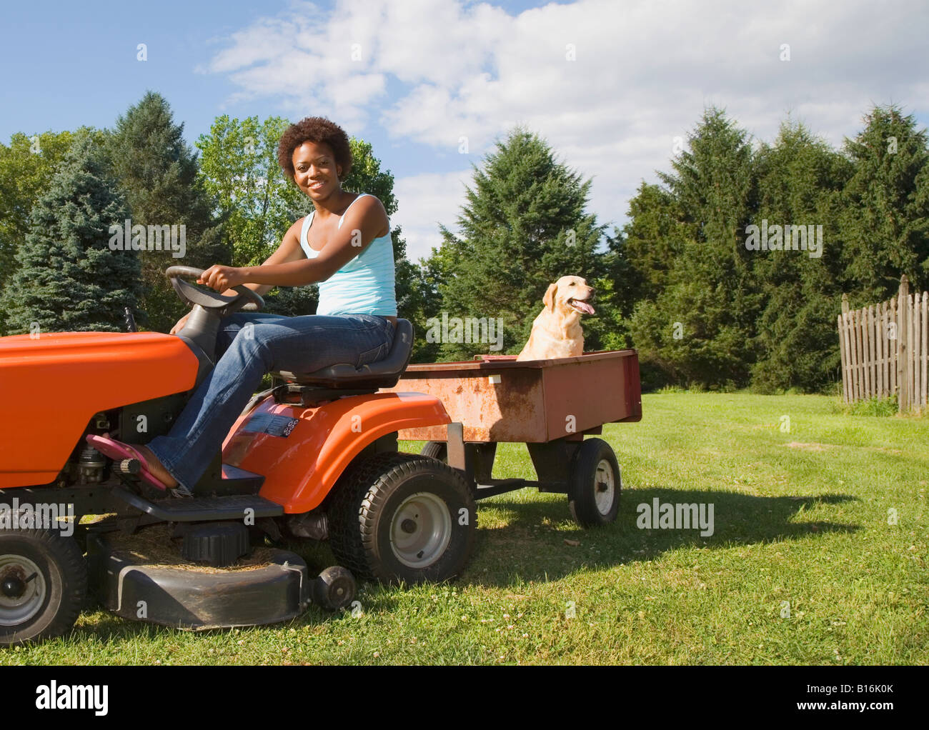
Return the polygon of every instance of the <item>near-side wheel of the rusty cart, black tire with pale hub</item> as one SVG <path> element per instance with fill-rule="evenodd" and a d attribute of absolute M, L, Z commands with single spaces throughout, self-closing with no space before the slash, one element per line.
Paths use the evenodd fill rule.
<path fill-rule="evenodd" d="M 616 454 L 601 438 L 588 438 L 574 453 L 568 506 L 582 528 L 608 525 L 620 512 L 622 475 Z"/>

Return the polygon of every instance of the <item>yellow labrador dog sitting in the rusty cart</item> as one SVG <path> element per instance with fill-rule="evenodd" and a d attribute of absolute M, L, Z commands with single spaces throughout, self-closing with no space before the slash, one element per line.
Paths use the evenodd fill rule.
<path fill-rule="evenodd" d="M 563 276 L 543 296 L 545 308 L 532 322 L 529 342 L 517 360 L 574 358 L 583 354 L 581 315 L 594 314 L 594 287 L 579 276 Z"/>

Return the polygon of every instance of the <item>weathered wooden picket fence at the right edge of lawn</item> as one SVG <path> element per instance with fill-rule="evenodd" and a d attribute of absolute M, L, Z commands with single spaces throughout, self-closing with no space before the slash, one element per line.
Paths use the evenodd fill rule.
<path fill-rule="evenodd" d="M 900 412 L 926 407 L 929 364 L 929 292 L 909 293 L 900 277 L 894 299 L 861 309 L 848 309 L 842 295 L 839 348 L 842 392 L 846 403 L 897 395 Z"/>

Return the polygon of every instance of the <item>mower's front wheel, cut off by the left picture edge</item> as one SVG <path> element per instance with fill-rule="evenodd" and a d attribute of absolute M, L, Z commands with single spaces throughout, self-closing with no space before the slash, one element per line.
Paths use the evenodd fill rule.
<path fill-rule="evenodd" d="M 85 606 L 87 564 L 71 537 L 0 529 L 0 645 L 68 632 Z"/>

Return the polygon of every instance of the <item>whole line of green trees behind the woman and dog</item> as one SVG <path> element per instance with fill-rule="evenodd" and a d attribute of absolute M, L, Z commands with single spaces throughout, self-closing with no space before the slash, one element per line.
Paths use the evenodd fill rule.
<path fill-rule="evenodd" d="M 288 124 L 223 115 L 195 152 L 149 92 L 111 129 L 0 145 L 0 334 L 33 323 L 121 331 L 124 307 L 167 332 L 185 310 L 166 267 L 258 264 L 311 209 L 278 167 Z M 393 176 L 370 144 L 350 142 L 343 188 L 394 214 Z M 548 284 L 574 274 L 597 290 L 585 349 L 635 346 L 646 387 L 827 390 L 841 377 L 842 293 L 864 306 L 896 292 L 903 273 L 917 289 L 929 283 L 927 159 L 925 130 L 893 105 L 874 106 L 838 150 L 790 119 L 773 141 L 753 140 L 710 108 L 657 182 L 642 181 L 619 228 L 586 210 L 589 178 L 516 127 L 473 164 L 457 232 L 439 224 L 429 256 L 413 263 L 401 229 L 391 231 L 413 361 L 518 352 Z M 124 221 L 165 234 L 183 225 L 183 257 L 166 244 L 113 252 L 111 226 Z M 267 301 L 299 316 L 315 312 L 318 294 L 279 288 Z M 435 336 L 443 313 L 498 321 L 502 337 Z"/>

